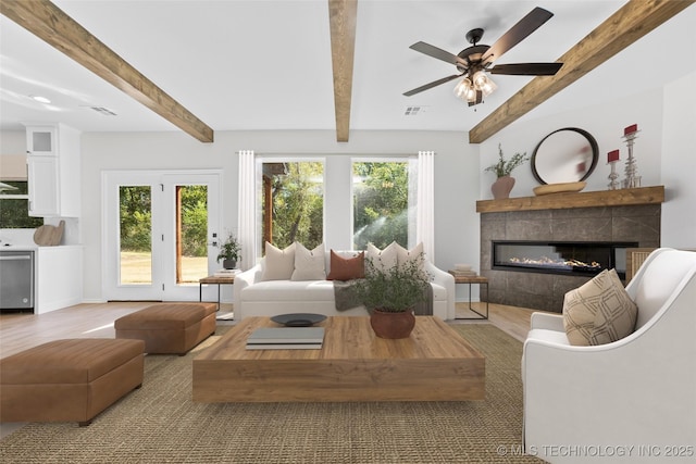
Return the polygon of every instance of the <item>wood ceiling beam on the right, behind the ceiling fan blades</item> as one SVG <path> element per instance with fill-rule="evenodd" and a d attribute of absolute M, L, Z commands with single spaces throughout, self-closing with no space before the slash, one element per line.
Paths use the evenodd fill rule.
<path fill-rule="evenodd" d="M 555 76 L 535 77 L 473 127 L 469 131 L 469 142 L 483 142 L 695 1 L 629 1 L 557 60 L 563 67 Z"/>

